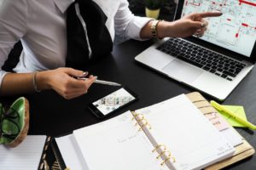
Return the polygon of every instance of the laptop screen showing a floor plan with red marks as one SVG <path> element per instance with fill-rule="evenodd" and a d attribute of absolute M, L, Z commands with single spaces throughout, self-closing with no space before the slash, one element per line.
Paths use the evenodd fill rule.
<path fill-rule="evenodd" d="M 209 25 L 202 40 L 247 57 L 256 42 L 256 0 L 184 0 L 181 16 L 220 11 L 220 17 L 207 18 Z"/>

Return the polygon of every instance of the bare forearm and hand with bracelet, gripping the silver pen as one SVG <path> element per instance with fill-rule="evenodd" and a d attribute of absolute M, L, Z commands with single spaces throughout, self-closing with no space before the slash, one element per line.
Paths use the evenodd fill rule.
<path fill-rule="evenodd" d="M 33 73 L 8 73 L 3 78 L 0 94 L 27 94 L 36 90 L 54 89 L 65 99 L 73 99 L 86 94 L 96 77 L 90 76 L 86 81 L 74 77 L 83 76 L 83 71 L 71 68 L 59 68 Z"/>

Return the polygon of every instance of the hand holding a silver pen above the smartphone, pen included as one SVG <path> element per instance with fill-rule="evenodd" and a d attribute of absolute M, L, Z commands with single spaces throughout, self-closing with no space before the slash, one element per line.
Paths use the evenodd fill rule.
<path fill-rule="evenodd" d="M 112 86 L 119 85 L 112 82 L 96 80 L 96 77 L 93 77 L 92 75 L 89 76 L 88 72 L 83 72 L 66 67 L 58 68 L 51 71 L 38 72 L 36 80 L 38 89 L 53 89 L 64 99 L 74 99 L 83 94 L 87 94 L 91 84 L 93 84 L 94 82 L 104 83 Z M 41 84 L 42 80 L 45 80 L 44 84 Z"/>

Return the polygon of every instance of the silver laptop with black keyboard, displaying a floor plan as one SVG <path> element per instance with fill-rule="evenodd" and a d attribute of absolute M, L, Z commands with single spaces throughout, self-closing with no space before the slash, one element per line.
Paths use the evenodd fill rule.
<path fill-rule="evenodd" d="M 207 18 L 203 37 L 164 38 L 135 59 L 215 99 L 226 99 L 256 60 L 256 2 L 224 2 L 179 0 L 175 20 L 195 12 L 223 15 Z"/>

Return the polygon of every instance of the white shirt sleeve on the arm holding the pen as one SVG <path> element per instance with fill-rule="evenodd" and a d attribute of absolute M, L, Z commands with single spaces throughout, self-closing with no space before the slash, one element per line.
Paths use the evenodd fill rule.
<path fill-rule="evenodd" d="M 0 86 L 6 71 L 2 66 L 15 43 L 26 33 L 26 0 L 0 2 Z"/>

